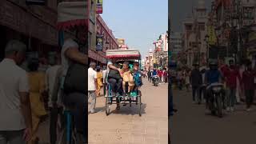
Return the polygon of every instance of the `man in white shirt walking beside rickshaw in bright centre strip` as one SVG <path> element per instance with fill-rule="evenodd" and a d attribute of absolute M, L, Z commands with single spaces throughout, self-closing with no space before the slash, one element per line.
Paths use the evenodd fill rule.
<path fill-rule="evenodd" d="M 91 97 L 90 113 L 95 113 L 96 106 L 96 87 L 97 87 L 97 72 L 95 71 L 96 63 L 90 62 L 90 68 L 88 69 L 88 100 Z"/>

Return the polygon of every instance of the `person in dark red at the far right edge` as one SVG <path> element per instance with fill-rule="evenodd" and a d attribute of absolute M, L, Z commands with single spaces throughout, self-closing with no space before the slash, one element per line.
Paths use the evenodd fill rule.
<path fill-rule="evenodd" d="M 248 62 L 246 70 L 242 73 L 242 84 L 246 94 L 246 110 L 250 111 L 250 106 L 254 102 L 254 78 L 255 72 L 252 70 L 251 62 Z"/>

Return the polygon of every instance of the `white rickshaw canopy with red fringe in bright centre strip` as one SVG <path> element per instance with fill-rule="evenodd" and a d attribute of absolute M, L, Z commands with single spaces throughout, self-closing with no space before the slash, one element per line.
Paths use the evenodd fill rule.
<path fill-rule="evenodd" d="M 129 58 L 140 59 L 138 50 L 106 50 L 106 58 Z"/>

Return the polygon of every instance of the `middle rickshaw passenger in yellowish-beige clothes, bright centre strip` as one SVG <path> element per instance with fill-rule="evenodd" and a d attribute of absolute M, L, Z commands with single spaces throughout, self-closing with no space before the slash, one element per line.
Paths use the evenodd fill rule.
<path fill-rule="evenodd" d="M 126 95 L 126 83 L 128 83 L 128 96 L 130 95 L 130 91 L 134 88 L 134 78 L 132 74 L 130 74 L 129 70 L 129 62 L 123 62 L 122 67 L 122 90 L 123 95 Z"/>

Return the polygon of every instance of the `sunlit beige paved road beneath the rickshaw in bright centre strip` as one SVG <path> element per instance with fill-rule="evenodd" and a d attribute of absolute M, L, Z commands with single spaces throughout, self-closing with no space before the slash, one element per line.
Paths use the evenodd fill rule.
<path fill-rule="evenodd" d="M 152 86 L 144 80 L 142 86 L 142 117 L 138 116 L 138 106 L 121 106 L 121 110 L 109 116 L 105 114 L 105 98 L 98 97 L 96 114 L 89 114 L 90 144 L 166 144 L 167 85 Z"/>

